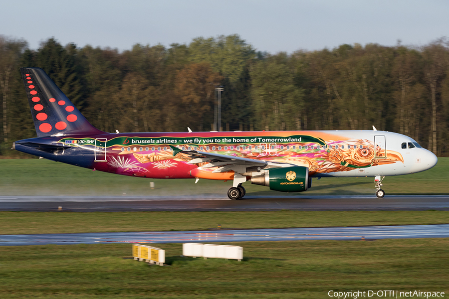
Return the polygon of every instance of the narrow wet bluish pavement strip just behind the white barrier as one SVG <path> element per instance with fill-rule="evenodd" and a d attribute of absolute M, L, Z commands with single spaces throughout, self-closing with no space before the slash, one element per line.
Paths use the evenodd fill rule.
<path fill-rule="evenodd" d="M 177 232 L 0 235 L 0 245 L 447 238 L 449 224 Z"/>

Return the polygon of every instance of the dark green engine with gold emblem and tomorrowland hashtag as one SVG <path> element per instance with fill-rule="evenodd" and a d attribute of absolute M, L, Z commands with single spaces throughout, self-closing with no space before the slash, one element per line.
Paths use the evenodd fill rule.
<path fill-rule="evenodd" d="M 268 186 L 281 192 L 301 192 L 310 187 L 309 168 L 291 166 L 268 169 L 262 175 L 251 177 L 251 184 Z"/>

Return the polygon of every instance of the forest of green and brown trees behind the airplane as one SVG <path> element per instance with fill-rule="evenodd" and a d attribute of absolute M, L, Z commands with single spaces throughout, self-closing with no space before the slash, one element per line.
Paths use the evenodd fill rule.
<path fill-rule="evenodd" d="M 291 54 L 256 51 L 240 36 L 190 44 L 37 50 L 0 35 L 0 157 L 36 137 L 20 67 L 40 67 L 96 128 L 115 132 L 211 131 L 223 86 L 223 131 L 378 130 L 449 155 L 449 43 L 344 44 Z"/>

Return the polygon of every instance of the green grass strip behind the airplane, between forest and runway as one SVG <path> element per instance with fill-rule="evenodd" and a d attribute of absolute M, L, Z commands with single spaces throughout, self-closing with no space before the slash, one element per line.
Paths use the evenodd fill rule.
<path fill-rule="evenodd" d="M 387 194 L 449 194 L 449 157 L 424 172 L 391 176 L 384 180 Z M 155 182 L 155 188 L 150 188 Z M 45 159 L 0 159 L 1 195 L 195 195 L 226 197 L 231 182 L 201 179 L 147 179 L 116 175 Z M 245 183 L 248 195 L 287 195 Z M 289 195 L 373 195 L 372 177 L 313 179 L 312 188 Z"/>

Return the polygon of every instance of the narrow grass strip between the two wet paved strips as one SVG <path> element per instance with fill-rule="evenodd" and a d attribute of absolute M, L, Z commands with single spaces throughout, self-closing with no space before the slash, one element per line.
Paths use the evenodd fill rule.
<path fill-rule="evenodd" d="M 449 211 L 0 212 L 0 235 L 448 223 Z"/>

